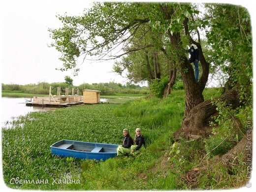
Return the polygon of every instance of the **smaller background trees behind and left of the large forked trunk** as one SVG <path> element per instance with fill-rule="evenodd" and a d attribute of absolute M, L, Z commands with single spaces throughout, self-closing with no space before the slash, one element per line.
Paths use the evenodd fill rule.
<path fill-rule="evenodd" d="M 143 34 L 143 38 L 141 34 Z M 143 31 L 134 34 L 130 44 L 130 47 L 123 49 L 124 52 L 131 48 L 136 49 L 142 44 L 150 45 L 150 47 L 129 52 L 122 57 L 121 61 L 115 62 L 114 70 L 120 75 L 124 74 L 135 83 L 147 81 L 149 87 L 152 82 L 159 83 L 162 80 L 166 82 L 164 83 L 166 84 L 165 89 L 157 92 L 162 92 L 160 97 L 170 95 L 177 70 L 176 65 L 170 62 L 169 54 L 166 52 L 170 47 L 166 34 L 161 31 L 154 32 L 149 25 L 146 25 Z"/>

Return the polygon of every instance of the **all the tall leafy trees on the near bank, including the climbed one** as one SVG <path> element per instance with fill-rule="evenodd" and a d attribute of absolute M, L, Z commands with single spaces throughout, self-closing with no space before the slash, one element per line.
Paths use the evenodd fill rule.
<path fill-rule="evenodd" d="M 122 58 L 115 63 L 115 71 L 126 72 L 134 82 L 151 84 L 167 77 L 164 95 L 170 94 L 180 76 L 186 92 L 180 132 L 185 135 L 203 134 L 208 128 L 207 120 L 218 112 L 216 105 L 211 100 L 204 101 L 202 94 L 209 73 L 216 68 L 229 77 L 227 93 L 216 99 L 231 108 L 252 106 L 252 33 L 250 15 L 244 7 L 97 2 L 81 16 L 58 18 L 63 27 L 49 32 L 52 46 L 62 53 L 62 70 L 74 69 L 77 73 L 77 58 Z M 205 33 L 204 41 L 199 30 Z M 188 60 L 191 43 L 200 51 L 198 84 Z M 120 47 L 122 52 L 117 50 Z"/>

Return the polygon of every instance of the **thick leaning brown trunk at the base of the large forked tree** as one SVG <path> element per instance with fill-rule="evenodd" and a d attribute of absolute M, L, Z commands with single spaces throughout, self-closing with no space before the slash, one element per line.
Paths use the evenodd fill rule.
<path fill-rule="evenodd" d="M 235 89 L 231 89 L 226 94 L 215 98 L 220 102 L 225 102 L 226 105 L 230 105 L 232 108 L 236 108 L 240 105 L 239 94 Z M 187 117 L 183 120 L 180 130 L 174 133 L 175 138 L 182 132 L 185 136 L 190 135 L 202 135 L 205 136 L 207 130 L 211 130 L 209 127 L 209 121 L 214 114 L 217 114 L 216 106 L 212 103 L 212 100 L 201 102 L 187 114 Z"/>

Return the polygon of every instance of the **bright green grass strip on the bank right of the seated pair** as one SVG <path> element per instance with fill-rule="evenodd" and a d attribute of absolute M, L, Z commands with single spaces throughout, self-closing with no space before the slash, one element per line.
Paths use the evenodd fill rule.
<path fill-rule="evenodd" d="M 87 190 L 152 190 L 177 189 L 175 176 L 162 157 L 173 142 L 172 133 L 181 126 L 184 91 L 168 98 L 131 100 L 115 108 L 117 117 L 133 117 L 142 128 L 148 147 L 135 157 L 118 157 L 105 162 L 83 163 L 83 189 Z"/>

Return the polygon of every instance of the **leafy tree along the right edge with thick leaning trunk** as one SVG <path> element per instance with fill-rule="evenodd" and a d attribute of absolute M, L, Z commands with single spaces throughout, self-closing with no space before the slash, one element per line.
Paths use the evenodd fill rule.
<path fill-rule="evenodd" d="M 240 105 L 252 107 L 250 15 L 244 7 L 234 5 L 206 4 L 206 10 L 204 19 L 209 21 L 210 26 L 206 36 L 212 50 L 210 53 L 213 58 L 212 64 L 220 66 L 223 73 L 229 77 L 228 91 L 213 100 L 226 103 L 232 108 Z M 190 41 L 193 42 L 192 38 Z M 200 46 L 198 43 L 196 45 Z M 201 63 L 203 67 L 204 61 L 201 60 Z M 212 100 L 202 102 L 189 111 L 187 118 L 183 121 L 183 128 L 186 128 L 186 125 L 200 128 L 206 125 L 210 117 L 216 113 L 218 111 L 212 104 Z"/>

